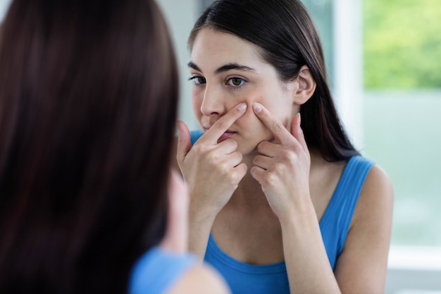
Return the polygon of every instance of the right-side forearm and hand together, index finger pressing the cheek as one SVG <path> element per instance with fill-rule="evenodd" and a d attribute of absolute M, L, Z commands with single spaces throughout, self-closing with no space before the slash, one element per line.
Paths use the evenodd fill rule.
<path fill-rule="evenodd" d="M 254 112 L 275 138 L 258 145 L 251 175 L 280 221 L 290 293 L 340 293 L 309 193 L 311 159 L 300 115 L 290 133 L 261 104 L 254 104 Z"/>

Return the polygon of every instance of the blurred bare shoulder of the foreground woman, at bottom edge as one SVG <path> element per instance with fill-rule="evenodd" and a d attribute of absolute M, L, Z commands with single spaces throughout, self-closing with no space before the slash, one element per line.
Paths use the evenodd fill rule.
<path fill-rule="evenodd" d="M 217 271 L 207 264 L 196 264 L 189 269 L 167 294 L 230 294 Z"/>

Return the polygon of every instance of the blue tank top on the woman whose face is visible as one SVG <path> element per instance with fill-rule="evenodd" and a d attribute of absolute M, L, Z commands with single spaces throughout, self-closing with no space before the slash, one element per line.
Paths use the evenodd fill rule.
<path fill-rule="evenodd" d="M 196 142 L 201 134 L 201 131 L 192 132 L 192 143 Z M 354 156 L 349 159 L 319 223 L 333 269 L 337 257 L 343 250 L 356 202 L 371 166 L 373 162 L 364 157 Z M 221 272 L 233 294 L 290 293 L 285 262 L 266 265 L 245 264 L 226 255 L 211 235 L 204 259 Z"/>

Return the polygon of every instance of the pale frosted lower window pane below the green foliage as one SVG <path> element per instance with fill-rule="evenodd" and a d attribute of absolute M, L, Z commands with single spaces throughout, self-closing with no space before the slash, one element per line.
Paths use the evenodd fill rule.
<path fill-rule="evenodd" d="M 365 150 L 395 189 L 392 245 L 441 246 L 441 90 L 366 91 Z"/>

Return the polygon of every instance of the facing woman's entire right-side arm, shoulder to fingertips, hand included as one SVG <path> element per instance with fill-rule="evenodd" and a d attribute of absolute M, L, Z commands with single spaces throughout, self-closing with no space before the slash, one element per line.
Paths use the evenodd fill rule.
<path fill-rule="evenodd" d="M 291 133 L 263 106 L 256 115 L 275 142 L 258 146 L 251 174 L 278 216 L 291 293 L 383 293 L 393 192 L 376 166 L 366 178 L 342 255 L 333 272 L 309 193 L 309 151 L 294 116 Z"/>

